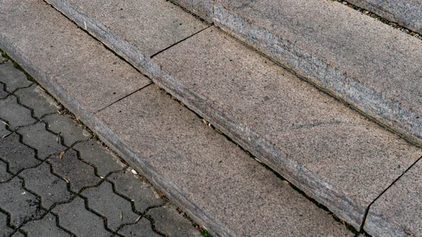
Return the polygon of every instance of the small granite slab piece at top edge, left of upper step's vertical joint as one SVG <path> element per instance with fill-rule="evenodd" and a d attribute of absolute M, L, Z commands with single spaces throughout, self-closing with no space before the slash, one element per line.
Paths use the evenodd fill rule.
<path fill-rule="evenodd" d="M 208 23 L 212 23 L 212 17 L 214 13 L 214 1 L 213 0 L 172 0 L 179 4 L 183 8 L 187 9 L 191 13 L 198 15 Z"/>

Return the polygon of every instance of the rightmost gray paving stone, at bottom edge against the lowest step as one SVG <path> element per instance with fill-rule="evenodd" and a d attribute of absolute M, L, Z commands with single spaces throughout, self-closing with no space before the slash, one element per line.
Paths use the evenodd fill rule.
<path fill-rule="evenodd" d="M 166 204 L 164 207 L 153 208 L 148 214 L 155 221 L 155 228 L 165 233 L 167 236 L 174 237 L 193 237 L 201 236 L 200 232 L 172 205 Z"/>

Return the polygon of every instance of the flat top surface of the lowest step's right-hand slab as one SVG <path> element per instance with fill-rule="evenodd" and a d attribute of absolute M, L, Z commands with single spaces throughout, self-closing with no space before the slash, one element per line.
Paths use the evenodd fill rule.
<path fill-rule="evenodd" d="M 161 190 L 193 212 L 196 221 L 206 219 L 201 225 L 221 236 L 353 236 L 162 93 L 150 86 L 111 105 L 97 114 L 96 129 L 106 132 L 99 127 L 104 124 L 118 131 L 120 138 L 110 134 L 113 144 L 139 153 L 128 161 L 143 174 L 157 172 L 153 181 L 165 185 Z"/>

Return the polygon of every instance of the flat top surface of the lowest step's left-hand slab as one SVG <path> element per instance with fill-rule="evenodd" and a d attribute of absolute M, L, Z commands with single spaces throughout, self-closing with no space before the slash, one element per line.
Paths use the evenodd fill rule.
<path fill-rule="evenodd" d="M 150 83 L 43 1 L 8 0 L 0 11 L 0 47 L 60 103 L 79 101 L 74 113 L 101 110 Z"/>

